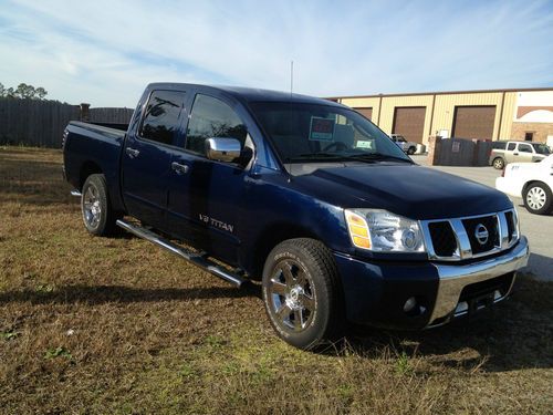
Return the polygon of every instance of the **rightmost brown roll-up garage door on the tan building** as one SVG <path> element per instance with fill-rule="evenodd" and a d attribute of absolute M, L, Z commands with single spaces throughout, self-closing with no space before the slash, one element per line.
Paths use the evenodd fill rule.
<path fill-rule="evenodd" d="M 456 106 L 452 136 L 457 138 L 488 138 L 493 136 L 495 105 Z"/>

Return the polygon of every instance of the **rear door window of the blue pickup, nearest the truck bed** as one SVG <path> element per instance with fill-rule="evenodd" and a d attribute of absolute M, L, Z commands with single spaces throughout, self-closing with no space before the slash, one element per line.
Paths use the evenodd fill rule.
<path fill-rule="evenodd" d="M 148 100 L 139 135 L 163 144 L 175 144 L 185 93 L 154 91 Z"/>

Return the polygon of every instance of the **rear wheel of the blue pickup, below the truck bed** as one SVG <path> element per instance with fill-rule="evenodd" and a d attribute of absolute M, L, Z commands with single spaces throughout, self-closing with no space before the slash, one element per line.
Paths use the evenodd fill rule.
<path fill-rule="evenodd" d="M 112 209 L 105 176 L 90 175 L 81 193 L 81 211 L 86 230 L 102 237 L 114 235 L 119 216 Z"/>

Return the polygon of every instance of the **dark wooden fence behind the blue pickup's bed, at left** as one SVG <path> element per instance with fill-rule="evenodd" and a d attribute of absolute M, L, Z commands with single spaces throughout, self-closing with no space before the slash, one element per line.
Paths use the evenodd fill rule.
<path fill-rule="evenodd" d="M 93 123 L 127 124 L 128 108 L 87 108 Z M 60 148 L 70 121 L 82 120 L 80 105 L 55 101 L 0 98 L 0 145 Z"/>

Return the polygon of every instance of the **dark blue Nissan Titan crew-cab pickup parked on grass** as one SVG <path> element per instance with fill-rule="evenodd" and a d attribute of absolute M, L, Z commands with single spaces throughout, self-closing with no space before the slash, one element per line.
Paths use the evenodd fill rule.
<path fill-rule="evenodd" d="M 477 312 L 529 257 L 507 196 L 418 166 L 325 100 L 154 83 L 128 126 L 71 122 L 63 148 L 88 232 L 261 280 L 272 326 L 301 349 L 346 320 L 419 330 Z"/>

